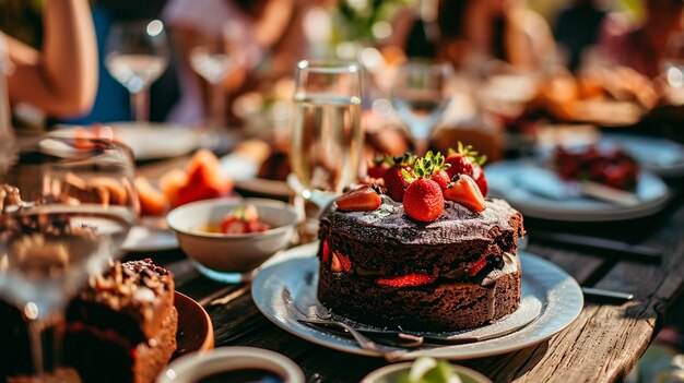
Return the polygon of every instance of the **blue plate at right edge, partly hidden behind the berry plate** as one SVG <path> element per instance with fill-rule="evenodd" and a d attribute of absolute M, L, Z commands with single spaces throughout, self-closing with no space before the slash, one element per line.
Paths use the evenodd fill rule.
<path fill-rule="evenodd" d="M 603 133 L 595 144 L 600 151 L 624 148 L 636 158 L 641 167 L 660 177 L 684 176 L 684 145 L 674 141 L 624 133 Z M 587 146 L 567 145 L 566 143 L 563 145 L 570 149 L 580 149 Z M 549 145 L 539 147 L 541 157 L 549 158 L 552 149 L 553 147 Z"/>

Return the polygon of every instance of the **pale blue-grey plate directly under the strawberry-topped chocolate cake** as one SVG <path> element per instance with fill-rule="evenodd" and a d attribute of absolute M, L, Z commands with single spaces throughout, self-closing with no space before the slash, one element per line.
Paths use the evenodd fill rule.
<path fill-rule="evenodd" d="M 320 346 L 332 349 L 375 356 L 359 348 L 352 339 L 340 337 L 300 324 L 284 304 L 281 294 L 287 288 L 295 303 L 316 296 L 318 280 L 318 259 L 312 258 L 316 248 L 306 248 L 309 258 L 297 258 L 275 263 L 257 274 L 251 295 L 257 308 L 283 330 Z M 296 256 L 303 251 L 295 248 Z M 415 359 L 431 356 L 448 359 L 472 359 L 519 350 L 547 339 L 569 325 L 579 315 L 583 297 L 577 282 L 549 261 L 520 252 L 522 262 L 522 301 L 533 297 L 542 302 L 542 313 L 527 327 L 495 339 L 480 343 L 437 348 L 421 348 L 404 354 L 401 359 Z M 304 302 L 306 303 L 306 302 Z"/>

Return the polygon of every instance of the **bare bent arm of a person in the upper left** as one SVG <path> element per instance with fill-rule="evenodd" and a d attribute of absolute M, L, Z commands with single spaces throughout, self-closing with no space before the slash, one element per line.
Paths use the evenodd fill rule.
<path fill-rule="evenodd" d="M 86 0 L 48 0 L 43 51 L 8 38 L 10 99 L 48 115 L 87 112 L 97 91 L 97 44 Z"/>

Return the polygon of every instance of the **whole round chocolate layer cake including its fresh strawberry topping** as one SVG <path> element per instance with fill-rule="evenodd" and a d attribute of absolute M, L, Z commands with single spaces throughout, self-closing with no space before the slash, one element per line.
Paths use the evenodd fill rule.
<path fill-rule="evenodd" d="M 447 158 L 428 152 L 376 164 L 381 178 L 330 204 L 320 217 L 321 303 L 361 323 L 410 331 L 475 327 L 514 312 L 522 216 L 484 198 L 482 161 L 461 146 Z M 389 171 L 405 183 L 385 182 Z"/>

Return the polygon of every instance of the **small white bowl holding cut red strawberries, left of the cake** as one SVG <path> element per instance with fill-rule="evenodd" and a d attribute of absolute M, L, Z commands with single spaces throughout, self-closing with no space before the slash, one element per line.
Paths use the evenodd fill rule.
<path fill-rule="evenodd" d="M 279 201 L 214 199 L 176 207 L 166 222 L 200 272 L 232 282 L 221 274 L 251 272 L 290 243 L 297 214 Z"/>

